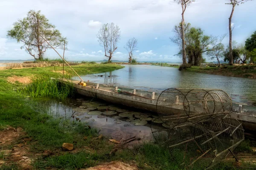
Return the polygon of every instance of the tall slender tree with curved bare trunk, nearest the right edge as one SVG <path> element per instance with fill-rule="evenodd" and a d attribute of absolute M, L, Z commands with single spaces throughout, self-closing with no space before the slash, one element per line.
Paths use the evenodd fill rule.
<path fill-rule="evenodd" d="M 230 17 L 229 17 L 229 25 L 228 25 L 228 28 L 229 28 L 229 57 L 230 57 L 230 60 L 229 60 L 229 63 L 230 64 L 233 64 L 233 55 L 232 55 L 232 17 L 233 17 L 233 14 L 234 14 L 234 10 L 235 10 L 235 7 L 238 6 L 239 4 L 241 3 L 245 3 L 249 0 L 230 0 L 230 3 L 226 3 L 226 4 L 229 4 L 229 5 L 232 5 L 232 11 L 231 11 L 231 14 L 230 14 Z"/>

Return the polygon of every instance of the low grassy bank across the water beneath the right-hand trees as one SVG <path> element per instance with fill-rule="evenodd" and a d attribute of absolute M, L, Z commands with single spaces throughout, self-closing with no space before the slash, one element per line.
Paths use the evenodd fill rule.
<path fill-rule="evenodd" d="M 204 68 L 201 68 L 199 66 L 192 66 L 191 68 L 187 68 L 185 71 L 256 79 L 256 65 L 228 65 L 223 67 Z"/>

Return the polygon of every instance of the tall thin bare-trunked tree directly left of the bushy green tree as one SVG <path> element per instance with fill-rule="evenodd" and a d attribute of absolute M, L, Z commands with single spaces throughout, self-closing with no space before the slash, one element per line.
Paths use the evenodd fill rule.
<path fill-rule="evenodd" d="M 181 13 L 181 16 L 182 16 L 182 19 L 181 19 L 181 40 L 182 40 L 182 61 L 183 61 L 183 64 L 186 64 L 186 47 L 185 47 L 185 33 L 184 33 L 184 23 L 185 23 L 185 20 L 184 20 L 184 13 L 186 11 L 186 7 L 189 6 L 189 4 L 191 4 L 192 2 L 195 2 L 195 0 L 174 0 L 175 2 L 177 2 L 178 4 L 181 4 L 181 7 L 182 7 L 182 13 Z"/>

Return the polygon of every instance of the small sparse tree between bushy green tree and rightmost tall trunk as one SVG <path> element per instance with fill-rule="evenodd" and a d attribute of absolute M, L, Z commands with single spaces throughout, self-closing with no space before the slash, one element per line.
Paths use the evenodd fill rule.
<path fill-rule="evenodd" d="M 212 50 L 207 51 L 207 55 L 210 57 L 210 59 L 217 59 L 218 63 L 220 64 L 220 58 L 223 57 L 224 53 L 224 44 L 222 43 L 222 40 L 226 36 L 223 35 L 221 37 L 218 37 L 218 40 L 214 43 L 214 48 Z"/>

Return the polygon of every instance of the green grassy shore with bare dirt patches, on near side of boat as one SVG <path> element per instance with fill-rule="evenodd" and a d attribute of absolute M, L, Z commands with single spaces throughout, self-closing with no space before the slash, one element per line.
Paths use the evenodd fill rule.
<path fill-rule="evenodd" d="M 76 65 L 73 68 L 78 74 L 84 75 L 113 71 L 122 66 L 86 64 Z M 74 75 L 67 67 L 65 71 L 67 76 Z M 27 164 L 27 169 L 74 170 L 117 160 L 135 164 L 141 170 L 180 170 L 178 165 L 171 161 L 172 156 L 165 147 L 151 142 L 133 149 L 113 144 L 107 137 L 100 137 L 96 129 L 84 123 L 50 116 L 47 108 L 44 108 L 38 99 L 29 99 L 15 90 L 24 87 L 22 80 L 25 78 L 61 77 L 61 73 L 62 67 L 0 70 L 0 136 L 9 133 L 5 131 L 8 126 L 23 129 L 17 132 L 19 136 L 15 140 L 1 144 L 0 161 L 3 163 L 0 165 L 1 170 L 24 168 L 20 158 L 15 156 L 18 152 L 33 160 L 30 167 Z M 19 81 L 10 79 L 14 75 Z M 60 90 L 59 93 L 63 91 Z M 63 143 L 74 144 L 75 150 L 64 151 L 61 148 Z M 245 146 L 242 145 L 240 150 L 250 152 L 248 142 L 244 144 Z M 117 150 L 116 153 L 110 154 L 114 149 Z M 12 154 L 5 154 L 4 150 L 11 150 Z M 249 166 L 248 163 L 242 165 Z M 225 170 L 225 167 L 231 166 L 233 166 L 232 162 L 225 162 L 214 169 Z M 199 170 L 200 167 L 192 169 Z M 230 169 L 236 170 L 236 168 Z"/>

